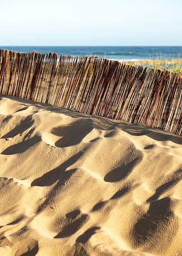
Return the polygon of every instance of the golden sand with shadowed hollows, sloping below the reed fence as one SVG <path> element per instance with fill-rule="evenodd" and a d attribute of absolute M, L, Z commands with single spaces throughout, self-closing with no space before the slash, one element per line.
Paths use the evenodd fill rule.
<path fill-rule="evenodd" d="M 0 256 L 182 255 L 182 137 L 0 94 Z"/>

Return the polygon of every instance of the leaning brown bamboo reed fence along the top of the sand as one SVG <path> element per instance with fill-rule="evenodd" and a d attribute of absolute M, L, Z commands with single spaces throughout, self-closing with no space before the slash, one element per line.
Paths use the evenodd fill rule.
<path fill-rule="evenodd" d="M 0 49 L 0 93 L 182 135 L 182 72 Z"/>

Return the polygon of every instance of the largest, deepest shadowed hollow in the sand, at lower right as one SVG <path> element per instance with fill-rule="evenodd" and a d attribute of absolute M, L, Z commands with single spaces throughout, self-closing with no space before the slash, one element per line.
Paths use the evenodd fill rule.
<path fill-rule="evenodd" d="M 178 220 L 172 212 L 170 198 L 151 202 L 149 210 L 134 225 L 129 235 L 134 248 L 145 247 L 145 252 L 165 255 L 178 231 Z"/>

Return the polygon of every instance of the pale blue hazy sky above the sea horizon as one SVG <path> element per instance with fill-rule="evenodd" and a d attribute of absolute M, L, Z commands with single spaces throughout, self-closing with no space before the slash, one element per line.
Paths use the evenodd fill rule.
<path fill-rule="evenodd" d="M 0 0 L 3 46 L 181 46 L 182 0 Z"/>

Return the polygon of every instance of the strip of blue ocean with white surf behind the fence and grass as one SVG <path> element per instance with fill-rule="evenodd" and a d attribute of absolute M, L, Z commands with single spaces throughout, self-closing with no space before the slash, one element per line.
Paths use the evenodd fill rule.
<path fill-rule="evenodd" d="M 182 46 L 0 46 L 15 52 L 57 53 L 72 56 L 98 56 L 118 61 L 182 58 Z"/>

